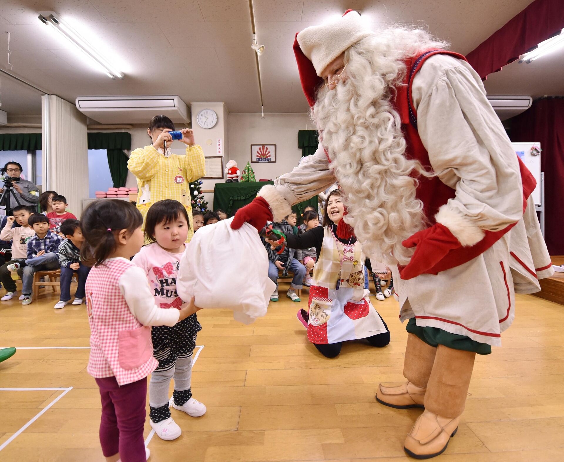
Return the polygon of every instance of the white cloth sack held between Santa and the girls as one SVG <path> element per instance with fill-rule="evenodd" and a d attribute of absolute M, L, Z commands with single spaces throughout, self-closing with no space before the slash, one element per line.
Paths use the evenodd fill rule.
<path fill-rule="evenodd" d="M 231 228 L 233 218 L 201 227 L 180 261 L 177 292 L 200 308 L 233 310 L 250 324 L 266 314 L 276 284 L 268 278 L 268 254 L 257 228 Z"/>

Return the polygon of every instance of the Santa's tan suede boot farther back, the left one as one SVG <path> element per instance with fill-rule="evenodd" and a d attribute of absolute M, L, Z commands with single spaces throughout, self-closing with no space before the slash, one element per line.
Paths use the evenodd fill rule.
<path fill-rule="evenodd" d="M 406 359 L 403 362 L 403 375 L 408 380 L 399 386 L 378 385 L 376 401 L 396 409 L 424 407 L 425 389 L 437 349 L 422 341 L 415 334 L 407 336 Z"/>

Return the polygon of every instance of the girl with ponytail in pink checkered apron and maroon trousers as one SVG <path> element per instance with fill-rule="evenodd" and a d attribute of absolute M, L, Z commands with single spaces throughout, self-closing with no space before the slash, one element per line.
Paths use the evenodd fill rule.
<path fill-rule="evenodd" d="M 143 245 L 142 222 L 139 211 L 119 199 L 95 201 L 82 214 L 82 256 L 92 266 L 86 280 L 87 371 L 100 389 L 100 444 L 108 462 L 147 460 L 147 376 L 158 365 L 150 326 L 173 326 L 197 310 L 193 299 L 180 310 L 155 305 L 146 274 L 130 261 Z"/>

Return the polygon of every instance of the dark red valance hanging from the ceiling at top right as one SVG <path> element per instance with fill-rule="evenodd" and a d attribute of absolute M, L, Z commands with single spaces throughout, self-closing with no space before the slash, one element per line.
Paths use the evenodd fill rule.
<path fill-rule="evenodd" d="M 486 79 L 538 43 L 564 28 L 562 0 L 535 0 L 501 29 L 466 55 L 475 71 Z"/>

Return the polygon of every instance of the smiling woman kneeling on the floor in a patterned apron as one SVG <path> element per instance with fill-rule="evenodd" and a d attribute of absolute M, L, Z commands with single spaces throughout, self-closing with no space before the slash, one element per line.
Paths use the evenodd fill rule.
<path fill-rule="evenodd" d="M 390 343 L 390 331 L 372 306 L 369 291 L 364 289 L 365 256 L 360 244 L 350 231 L 346 238 L 337 237 L 344 212 L 341 190 L 333 190 L 327 197 L 323 227 L 285 236 L 289 248 L 317 250 L 309 313 L 299 310 L 298 319 L 307 327 L 309 341 L 327 358 L 341 353 L 342 343 L 347 340 L 365 338 L 378 347 Z"/>

